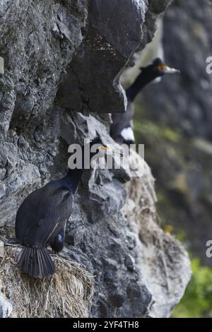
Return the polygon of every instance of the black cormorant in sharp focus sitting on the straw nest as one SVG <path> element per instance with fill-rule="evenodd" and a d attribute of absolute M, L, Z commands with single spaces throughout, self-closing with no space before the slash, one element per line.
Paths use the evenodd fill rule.
<path fill-rule="evenodd" d="M 90 142 L 90 148 L 94 144 L 100 145 L 97 146 L 100 157 L 112 154 L 99 138 Z M 94 155 L 90 153 L 90 158 Z M 50 181 L 33 191 L 20 205 L 16 215 L 16 238 L 23 245 L 18 265 L 25 273 L 44 278 L 55 272 L 47 246 L 50 245 L 55 252 L 64 247 L 66 221 L 71 215 L 73 195 L 83 171 L 69 169 L 63 179 Z"/>

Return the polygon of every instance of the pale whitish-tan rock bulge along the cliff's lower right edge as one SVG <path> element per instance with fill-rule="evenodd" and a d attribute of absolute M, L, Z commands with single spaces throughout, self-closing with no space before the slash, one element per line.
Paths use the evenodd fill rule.
<path fill-rule="evenodd" d="M 153 295 L 148 315 L 169 317 L 184 295 L 191 271 L 189 256 L 182 245 L 158 226 L 153 185 L 151 170 L 145 164 L 143 177 L 127 184 L 129 197 L 123 210 L 136 233 L 136 265 Z"/>

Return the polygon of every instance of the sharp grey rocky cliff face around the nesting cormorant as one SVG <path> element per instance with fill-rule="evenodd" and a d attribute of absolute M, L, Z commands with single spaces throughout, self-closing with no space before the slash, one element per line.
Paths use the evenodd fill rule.
<path fill-rule="evenodd" d="M 151 40 L 155 19 L 169 1 L 1 2 L 0 226 L 8 234 L 23 198 L 66 172 L 69 144 L 96 134 L 112 143 L 105 113 L 124 112 L 119 74 L 131 54 Z M 90 316 L 169 316 L 189 280 L 189 259 L 155 225 L 148 167 L 136 179 L 146 191 L 127 201 L 134 182 L 126 188 L 126 177 L 124 170 L 84 175 L 63 255 L 95 275 Z M 136 197 L 144 204 L 142 236 L 142 224 L 132 226 L 138 224 L 131 206 Z M 153 237 L 145 237 L 151 225 Z M 166 252 L 169 244 L 173 250 Z M 158 252 L 161 257 L 155 259 Z M 160 276 L 159 285 L 151 269 Z M 164 287 L 164 280 L 171 288 Z M 12 305 L 16 316 L 16 303 Z M 11 313 L 11 307 L 4 312 Z"/>

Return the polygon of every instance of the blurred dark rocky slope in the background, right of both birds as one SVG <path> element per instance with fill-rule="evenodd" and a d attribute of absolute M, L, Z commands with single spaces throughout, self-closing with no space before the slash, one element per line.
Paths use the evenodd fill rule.
<path fill-rule="evenodd" d="M 207 0 L 172 2 L 164 16 L 163 47 L 167 64 L 181 74 L 144 89 L 136 115 L 137 137 L 146 144 L 146 160 L 158 180 L 160 217 L 184 230 L 193 254 L 209 266 L 212 75 L 206 59 L 212 53 L 211 18 Z"/>

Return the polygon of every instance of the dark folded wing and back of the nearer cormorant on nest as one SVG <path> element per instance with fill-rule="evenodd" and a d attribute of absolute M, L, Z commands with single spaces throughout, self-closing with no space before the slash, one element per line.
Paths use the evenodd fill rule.
<path fill-rule="evenodd" d="M 33 191 L 21 204 L 16 215 L 16 237 L 21 244 L 47 244 L 66 223 L 72 212 L 73 194 L 52 181 Z"/>

